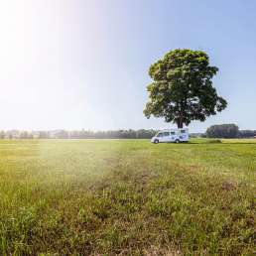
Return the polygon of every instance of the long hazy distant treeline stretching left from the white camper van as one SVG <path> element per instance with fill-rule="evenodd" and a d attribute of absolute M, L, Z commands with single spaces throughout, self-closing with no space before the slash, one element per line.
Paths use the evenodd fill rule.
<path fill-rule="evenodd" d="M 157 130 L 116 130 L 116 131 L 0 131 L 0 139 L 150 139 Z"/>

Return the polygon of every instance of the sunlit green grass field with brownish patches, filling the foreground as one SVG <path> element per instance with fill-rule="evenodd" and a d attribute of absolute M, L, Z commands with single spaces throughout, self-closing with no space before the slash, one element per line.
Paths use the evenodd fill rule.
<path fill-rule="evenodd" d="M 256 143 L 0 141 L 0 255 L 256 255 Z"/>

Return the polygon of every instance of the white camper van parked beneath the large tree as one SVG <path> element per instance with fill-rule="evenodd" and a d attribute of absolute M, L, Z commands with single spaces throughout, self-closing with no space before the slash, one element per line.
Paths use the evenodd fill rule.
<path fill-rule="evenodd" d="M 151 139 L 152 143 L 161 143 L 161 142 L 189 142 L 190 134 L 188 128 L 181 129 L 168 129 L 160 131 Z"/>

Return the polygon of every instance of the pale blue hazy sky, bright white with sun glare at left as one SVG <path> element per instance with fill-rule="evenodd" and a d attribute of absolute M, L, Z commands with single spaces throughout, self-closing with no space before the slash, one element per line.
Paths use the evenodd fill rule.
<path fill-rule="evenodd" d="M 148 67 L 206 51 L 228 108 L 192 131 L 256 129 L 254 0 L 1 0 L 0 130 L 167 128 L 146 119 Z"/>

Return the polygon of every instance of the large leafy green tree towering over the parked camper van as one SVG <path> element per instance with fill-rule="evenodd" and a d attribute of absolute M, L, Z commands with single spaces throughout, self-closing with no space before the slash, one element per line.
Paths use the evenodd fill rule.
<path fill-rule="evenodd" d="M 153 79 L 147 87 L 150 100 L 144 114 L 164 117 L 178 128 L 192 120 L 204 121 L 227 106 L 217 95 L 212 77 L 218 68 L 209 65 L 208 56 L 201 51 L 178 49 L 152 64 L 149 75 Z"/>

